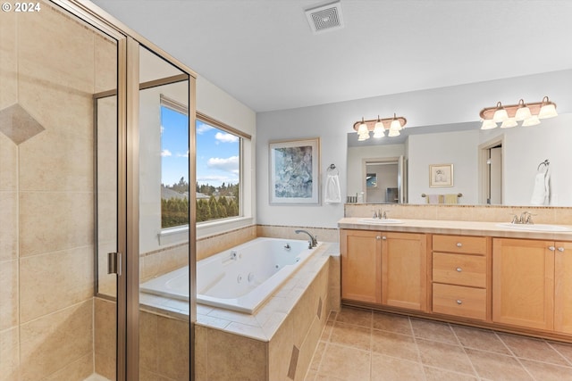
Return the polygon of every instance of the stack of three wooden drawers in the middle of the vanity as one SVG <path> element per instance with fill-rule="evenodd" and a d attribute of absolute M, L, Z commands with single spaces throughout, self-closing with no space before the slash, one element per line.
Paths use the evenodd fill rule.
<path fill-rule="evenodd" d="M 485 236 L 433 236 L 433 312 L 488 318 L 489 242 Z"/>

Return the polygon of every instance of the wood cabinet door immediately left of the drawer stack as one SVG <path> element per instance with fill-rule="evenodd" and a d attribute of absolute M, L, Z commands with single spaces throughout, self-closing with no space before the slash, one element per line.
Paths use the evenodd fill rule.
<path fill-rule="evenodd" d="M 426 311 L 427 238 L 425 234 L 382 233 L 382 303 Z"/>

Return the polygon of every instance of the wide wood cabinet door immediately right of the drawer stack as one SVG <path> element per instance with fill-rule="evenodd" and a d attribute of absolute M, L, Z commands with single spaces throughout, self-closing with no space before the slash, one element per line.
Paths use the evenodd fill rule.
<path fill-rule="evenodd" d="M 552 329 L 553 242 L 511 238 L 492 241 L 492 321 Z"/>

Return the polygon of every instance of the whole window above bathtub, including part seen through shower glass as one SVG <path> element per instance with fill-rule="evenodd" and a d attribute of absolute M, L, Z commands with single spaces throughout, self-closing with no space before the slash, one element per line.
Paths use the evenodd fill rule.
<path fill-rule="evenodd" d="M 161 228 L 189 224 L 189 134 L 185 107 L 161 98 Z M 240 163 L 246 135 L 198 114 L 197 222 L 239 217 Z"/>

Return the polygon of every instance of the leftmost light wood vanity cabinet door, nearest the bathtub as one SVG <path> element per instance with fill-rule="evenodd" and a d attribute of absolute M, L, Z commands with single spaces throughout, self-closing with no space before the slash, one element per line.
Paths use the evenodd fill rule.
<path fill-rule="evenodd" d="M 382 302 L 382 239 L 368 230 L 341 230 L 341 298 Z"/>

